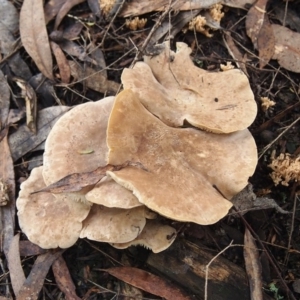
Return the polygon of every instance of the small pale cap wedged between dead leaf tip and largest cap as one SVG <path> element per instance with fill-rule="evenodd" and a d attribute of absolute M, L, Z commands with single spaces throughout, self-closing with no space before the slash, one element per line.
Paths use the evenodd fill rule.
<path fill-rule="evenodd" d="M 95 187 L 85 195 L 89 202 L 106 207 L 133 208 L 142 206 L 131 191 L 105 176 Z"/>

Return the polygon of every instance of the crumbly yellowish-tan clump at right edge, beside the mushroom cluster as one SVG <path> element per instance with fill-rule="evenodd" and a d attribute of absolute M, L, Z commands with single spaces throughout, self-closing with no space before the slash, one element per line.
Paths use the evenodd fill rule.
<path fill-rule="evenodd" d="M 300 156 L 293 158 L 288 153 L 281 153 L 272 158 L 269 167 L 273 170 L 270 176 L 275 185 L 288 186 L 291 181 L 300 181 Z"/>

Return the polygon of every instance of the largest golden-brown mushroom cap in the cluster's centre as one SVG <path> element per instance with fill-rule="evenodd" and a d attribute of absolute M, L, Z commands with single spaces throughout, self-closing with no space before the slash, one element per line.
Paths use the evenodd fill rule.
<path fill-rule="evenodd" d="M 213 224 L 232 206 L 257 163 L 254 139 L 245 129 L 219 135 L 165 125 L 121 92 L 107 129 L 108 163 L 140 162 L 148 171 L 126 167 L 107 172 L 151 210 L 178 221 Z M 226 199 L 225 199 L 225 198 Z"/>

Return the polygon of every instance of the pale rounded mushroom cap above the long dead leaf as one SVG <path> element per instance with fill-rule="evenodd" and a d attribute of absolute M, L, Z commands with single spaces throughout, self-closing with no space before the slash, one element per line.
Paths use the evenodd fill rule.
<path fill-rule="evenodd" d="M 47 185 L 106 165 L 106 128 L 113 100 L 107 97 L 78 105 L 56 122 L 45 144 L 43 177 Z"/>

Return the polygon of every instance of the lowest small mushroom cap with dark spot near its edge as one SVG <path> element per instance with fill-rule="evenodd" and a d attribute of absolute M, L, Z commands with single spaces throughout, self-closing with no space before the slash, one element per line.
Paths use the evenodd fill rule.
<path fill-rule="evenodd" d="M 125 249 L 130 246 L 144 246 L 158 253 L 169 248 L 176 238 L 176 229 L 163 225 L 157 220 L 148 220 L 141 234 L 131 242 L 111 244 L 117 249 Z"/>

